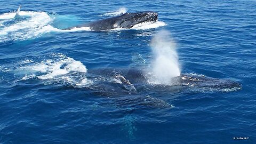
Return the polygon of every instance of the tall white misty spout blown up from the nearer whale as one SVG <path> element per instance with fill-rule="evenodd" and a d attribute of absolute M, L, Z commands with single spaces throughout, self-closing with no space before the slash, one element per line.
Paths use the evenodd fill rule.
<path fill-rule="evenodd" d="M 151 62 L 153 83 L 171 84 L 172 78 L 180 76 L 176 44 L 166 30 L 159 31 L 151 41 L 154 59 Z"/>

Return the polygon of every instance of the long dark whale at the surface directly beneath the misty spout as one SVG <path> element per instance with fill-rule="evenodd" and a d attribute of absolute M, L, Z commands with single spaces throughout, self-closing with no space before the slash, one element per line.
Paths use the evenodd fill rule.
<path fill-rule="evenodd" d="M 242 89 L 241 84 L 230 79 L 195 74 L 181 74 L 171 78 L 167 84 L 155 83 L 152 75 L 137 68 L 89 70 L 87 78 L 93 81 L 89 86 L 93 93 L 104 96 L 152 92 L 229 92 Z"/>

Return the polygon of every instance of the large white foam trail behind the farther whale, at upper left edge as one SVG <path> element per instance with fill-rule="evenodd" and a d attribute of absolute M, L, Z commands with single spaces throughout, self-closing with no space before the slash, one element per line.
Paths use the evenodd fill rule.
<path fill-rule="evenodd" d="M 4 26 L 0 29 L 1 39 L 0 42 L 10 41 L 10 40 L 26 40 L 29 38 L 36 38 L 45 33 L 50 33 L 51 31 L 55 32 L 72 32 L 72 31 L 90 31 L 89 27 L 82 28 L 73 28 L 70 30 L 62 30 L 54 28 L 51 26 L 51 23 L 55 19 L 51 17 L 46 12 L 34 12 L 34 11 L 20 11 L 19 15 L 26 17 L 26 19 L 16 20 L 13 19 L 15 12 L 4 13 L 0 15 L 0 20 L 10 21 L 14 20 L 15 22 L 12 25 L 4 26 L 1 23 L 1 26 Z"/>

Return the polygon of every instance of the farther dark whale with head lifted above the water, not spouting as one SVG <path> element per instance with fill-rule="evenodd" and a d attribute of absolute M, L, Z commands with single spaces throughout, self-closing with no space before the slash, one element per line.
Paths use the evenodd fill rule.
<path fill-rule="evenodd" d="M 93 31 L 110 30 L 115 28 L 128 29 L 138 24 L 154 23 L 158 20 L 157 16 L 158 14 L 153 11 L 124 13 L 116 17 L 100 19 L 97 21 L 85 23 L 83 25 L 69 27 L 67 29 L 81 28 L 81 27 L 89 27 Z"/>

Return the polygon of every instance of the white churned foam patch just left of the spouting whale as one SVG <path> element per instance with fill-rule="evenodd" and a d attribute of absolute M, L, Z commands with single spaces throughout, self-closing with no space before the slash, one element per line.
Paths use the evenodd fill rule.
<path fill-rule="evenodd" d="M 53 54 L 51 59 L 41 62 L 26 60 L 21 62 L 25 66 L 20 66 L 19 71 L 25 72 L 22 80 L 38 78 L 52 82 L 68 82 L 77 87 L 83 87 L 91 83 L 85 77 L 86 67 L 82 62 L 63 54 Z"/>

